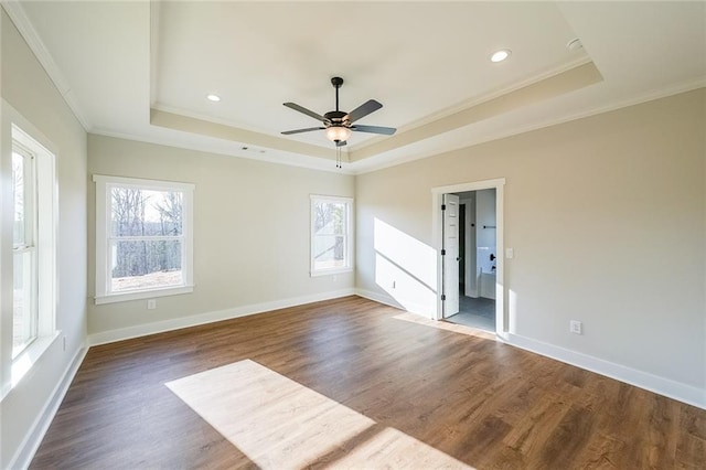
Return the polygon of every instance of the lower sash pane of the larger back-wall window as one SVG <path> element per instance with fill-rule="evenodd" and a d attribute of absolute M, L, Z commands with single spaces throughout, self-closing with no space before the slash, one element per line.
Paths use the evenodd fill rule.
<path fill-rule="evenodd" d="M 178 239 L 111 244 L 111 291 L 183 285 Z"/>

